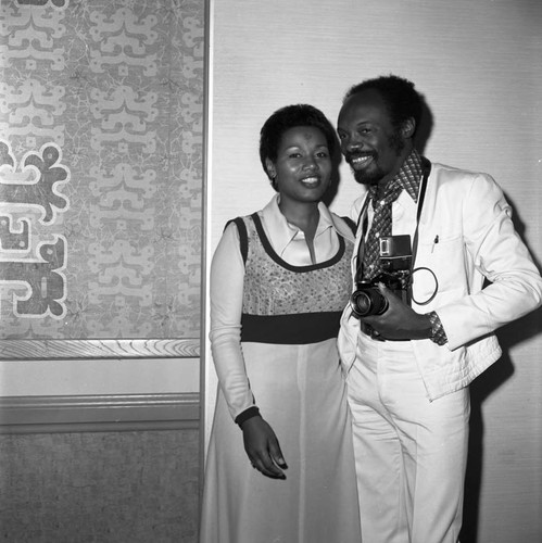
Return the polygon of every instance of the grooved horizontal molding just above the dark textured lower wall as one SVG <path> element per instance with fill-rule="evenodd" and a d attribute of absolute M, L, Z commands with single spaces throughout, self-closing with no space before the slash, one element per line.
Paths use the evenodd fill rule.
<path fill-rule="evenodd" d="M 0 433 L 198 429 L 200 395 L 0 397 Z"/>

